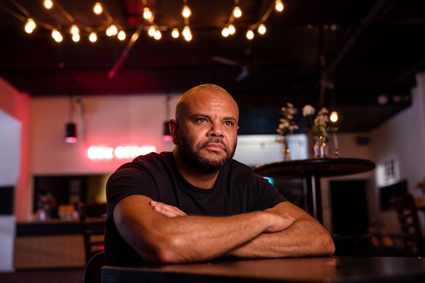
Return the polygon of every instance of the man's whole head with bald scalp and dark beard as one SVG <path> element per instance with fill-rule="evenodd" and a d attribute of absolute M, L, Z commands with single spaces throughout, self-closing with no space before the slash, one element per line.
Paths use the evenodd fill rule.
<path fill-rule="evenodd" d="M 238 119 L 236 101 L 219 86 L 200 85 L 181 95 L 170 121 L 181 162 L 205 173 L 219 170 L 235 153 Z"/>

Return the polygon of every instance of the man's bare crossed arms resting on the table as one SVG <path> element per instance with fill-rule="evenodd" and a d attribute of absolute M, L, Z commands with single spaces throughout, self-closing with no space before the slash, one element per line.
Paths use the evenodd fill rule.
<path fill-rule="evenodd" d="M 288 201 L 264 211 L 226 217 L 188 216 L 143 195 L 122 199 L 115 225 L 146 262 L 180 263 L 222 255 L 250 258 L 329 255 L 327 230 Z"/>

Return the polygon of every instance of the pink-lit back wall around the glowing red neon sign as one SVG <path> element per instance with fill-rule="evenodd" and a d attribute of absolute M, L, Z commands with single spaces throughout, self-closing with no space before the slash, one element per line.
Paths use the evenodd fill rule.
<path fill-rule="evenodd" d="M 157 152 L 174 148 L 164 141 L 163 122 L 174 118 L 180 94 L 35 97 L 31 100 L 30 171 L 32 175 L 109 174 L 132 158 L 90 159 L 89 147 L 154 146 Z M 167 117 L 169 116 L 169 117 Z M 78 141 L 66 143 L 65 125 L 76 124 Z"/>

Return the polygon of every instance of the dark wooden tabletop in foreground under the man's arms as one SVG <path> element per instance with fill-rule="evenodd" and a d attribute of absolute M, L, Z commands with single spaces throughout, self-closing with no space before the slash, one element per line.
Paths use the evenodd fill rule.
<path fill-rule="evenodd" d="M 305 257 L 102 267 L 103 283 L 424 283 L 425 259 Z"/>

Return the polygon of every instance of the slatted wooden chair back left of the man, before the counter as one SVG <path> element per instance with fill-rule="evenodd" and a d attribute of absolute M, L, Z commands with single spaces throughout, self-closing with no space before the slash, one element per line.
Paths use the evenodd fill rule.
<path fill-rule="evenodd" d="M 76 203 L 84 236 L 86 262 L 98 252 L 104 251 L 106 203 Z"/>

